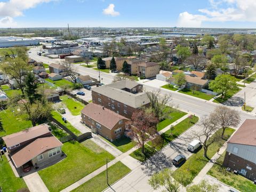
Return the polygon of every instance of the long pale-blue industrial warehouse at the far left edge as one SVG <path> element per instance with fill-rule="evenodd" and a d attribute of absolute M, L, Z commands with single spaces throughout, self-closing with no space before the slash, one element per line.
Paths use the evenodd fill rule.
<path fill-rule="evenodd" d="M 0 47 L 33 46 L 38 45 L 39 40 L 25 37 L 0 37 Z"/>

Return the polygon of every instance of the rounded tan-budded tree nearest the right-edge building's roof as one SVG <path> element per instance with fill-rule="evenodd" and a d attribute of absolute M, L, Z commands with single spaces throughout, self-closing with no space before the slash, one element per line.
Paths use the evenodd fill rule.
<path fill-rule="evenodd" d="M 224 133 L 227 127 L 237 127 L 241 121 L 238 111 L 225 106 L 216 107 L 210 114 L 212 122 L 222 128 L 221 138 L 224 139 Z"/>

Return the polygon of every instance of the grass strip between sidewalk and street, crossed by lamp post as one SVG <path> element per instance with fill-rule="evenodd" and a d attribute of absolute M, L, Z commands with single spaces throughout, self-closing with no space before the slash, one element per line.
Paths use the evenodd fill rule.
<path fill-rule="evenodd" d="M 117 162 L 116 164 L 108 168 L 108 183 L 112 185 L 117 180 L 123 178 L 131 170 L 125 166 L 122 162 Z M 97 185 L 95 185 L 97 183 Z M 101 172 L 96 175 L 94 178 L 86 181 L 83 185 L 72 190 L 73 192 L 100 192 L 108 187 L 106 181 L 106 171 Z"/>

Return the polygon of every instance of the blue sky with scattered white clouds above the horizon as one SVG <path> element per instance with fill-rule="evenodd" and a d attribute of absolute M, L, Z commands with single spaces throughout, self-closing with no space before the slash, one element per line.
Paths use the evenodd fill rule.
<path fill-rule="evenodd" d="M 5 0 L 0 27 L 255 28 L 255 0 Z"/>

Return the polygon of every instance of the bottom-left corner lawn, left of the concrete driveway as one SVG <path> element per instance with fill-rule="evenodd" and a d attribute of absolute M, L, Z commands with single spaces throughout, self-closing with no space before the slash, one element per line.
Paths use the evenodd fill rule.
<path fill-rule="evenodd" d="M 22 178 L 15 177 L 12 168 L 3 156 L 4 161 L 0 159 L 0 186 L 4 192 L 14 192 L 19 189 L 27 188 L 25 181 Z"/>

